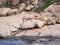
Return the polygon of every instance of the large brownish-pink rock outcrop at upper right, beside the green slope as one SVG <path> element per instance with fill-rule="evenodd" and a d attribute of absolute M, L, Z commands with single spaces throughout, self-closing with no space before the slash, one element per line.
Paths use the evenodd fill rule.
<path fill-rule="evenodd" d="M 44 12 L 50 12 L 56 19 L 56 22 L 60 23 L 60 5 L 50 5 L 44 10 Z"/>

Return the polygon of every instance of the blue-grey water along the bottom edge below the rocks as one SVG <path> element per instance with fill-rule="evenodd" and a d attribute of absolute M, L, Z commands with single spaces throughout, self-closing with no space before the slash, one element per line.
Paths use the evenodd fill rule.
<path fill-rule="evenodd" d="M 26 43 L 22 40 L 0 40 L 0 45 L 60 45 L 60 39 L 55 39 L 52 41 L 43 41 L 43 42 L 33 42 L 32 44 Z"/>

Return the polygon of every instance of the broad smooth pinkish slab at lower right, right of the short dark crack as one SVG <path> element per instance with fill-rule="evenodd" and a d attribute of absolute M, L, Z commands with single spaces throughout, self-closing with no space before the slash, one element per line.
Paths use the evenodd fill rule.
<path fill-rule="evenodd" d="M 52 37 L 56 37 L 56 38 L 60 38 L 60 28 L 59 28 L 60 24 L 56 24 L 56 25 L 51 25 L 48 26 L 41 31 L 40 36 L 52 36 Z"/>

